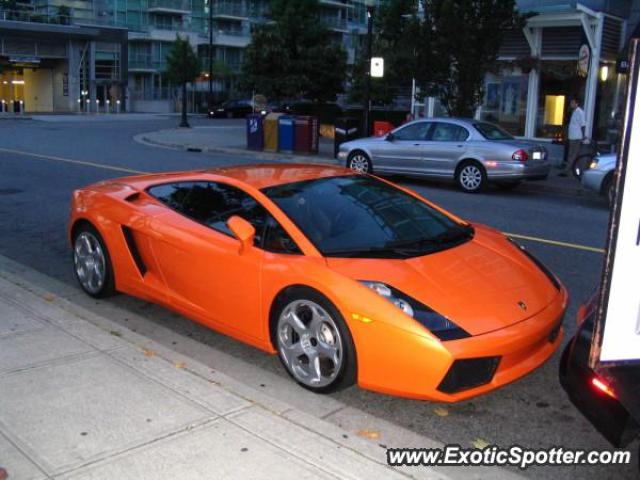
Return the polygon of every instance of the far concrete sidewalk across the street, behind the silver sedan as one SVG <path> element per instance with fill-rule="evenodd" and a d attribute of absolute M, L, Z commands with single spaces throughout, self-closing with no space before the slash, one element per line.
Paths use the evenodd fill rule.
<path fill-rule="evenodd" d="M 299 163 L 319 163 L 337 165 L 333 156 L 333 140 L 320 138 L 317 155 L 300 155 L 287 153 L 256 152 L 247 150 L 244 125 L 212 125 L 194 128 L 171 128 L 136 135 L 134 140 L 151 146 L 189 150 L 203 153 L 223 153 L 228 155 L 251 156 L 256 161 L 286 161 Z M 556 146 L 552 164 L 560 162 Z M 529 192 L 552 193 L 572 196 L 597 197 L 585 190 L 573 177 L 559 177 L 559 170 L 552 169 L 549 178 L 542 181 L 523 182 L 518 189 Z"/>

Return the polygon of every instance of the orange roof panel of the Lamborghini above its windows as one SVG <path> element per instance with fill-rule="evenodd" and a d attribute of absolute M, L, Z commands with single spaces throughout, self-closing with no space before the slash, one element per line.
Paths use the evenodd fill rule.
<path fill-rule="evenodd" d="M 256 189 L 262 189 L 285 183 L 301 182 L 318 178 L 354 175 L 349 169 L 331 165 L 313 164 L 253 164 L 229 167 L 190 170 L 184 172 L 167 172 L 149 175 L 137 175 L 116 180 L 135 188 L 144 190 L 161 183 L 194 180 L 219 180 L 220 177 L 233 179 Z"/>

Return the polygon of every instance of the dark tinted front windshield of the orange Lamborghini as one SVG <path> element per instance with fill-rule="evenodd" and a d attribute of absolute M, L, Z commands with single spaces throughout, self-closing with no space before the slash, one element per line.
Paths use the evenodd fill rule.
<path fill-rule="evenodd" d="M 367 176 L 320 178 L 262 191 L 326 257 L 410 258 L 473 236 L 472 227 Z"/>

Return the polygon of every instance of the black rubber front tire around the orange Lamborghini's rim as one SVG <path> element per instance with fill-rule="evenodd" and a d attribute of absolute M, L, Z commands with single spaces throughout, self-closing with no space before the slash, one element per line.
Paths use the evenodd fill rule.
<path fill-rule="evenodd" d="M 296 301 L 310 301 L 321 306 L 330 315 L 331 319 L 334 321 L 334 324 L 338 329 L 341 344 L 343 347 L 341 352 L 342 361 L 337 375 L 335 375 L 335 378 L 333 378 L 331 383 L 329 383 L 328 385 L 317 387 L 300 381 L 298 378 L 296 378 L 284 359 L 285 355 L 282 353 L 283 347 L 279 341 L 279 318 L 283 311 L 287 308 L 287 306 Z M 271 340 L 273 342 L 273 346 L 278 351 L 278 359 L 280 360 L 280 363 L 282 363 L 282 366 L 284 367 L 287 374 L 296 383 L 298 383 L 298 385 L 314 393 L 324 394 L 343 390 L 352 386 L 356 382 L 357 357 L 355 345 L 353 344 L 353 338 L 351 337 L 349 328 L 338 309 L 320 292 L 304 286 L 289 288 L 285 293 L 281 294 L 278 297 L 276 303 L 271 309 L 270 327 Z"/>

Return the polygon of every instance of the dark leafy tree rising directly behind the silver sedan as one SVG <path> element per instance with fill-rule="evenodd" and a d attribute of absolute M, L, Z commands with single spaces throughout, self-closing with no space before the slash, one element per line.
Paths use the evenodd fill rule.
<path fill-rule="evenodd" d="M 526 16 L 515 0 L 421 0 L 424 19 L 416 35 L 416 77 L 453 116 L 473 116 L 495 68 L 504 33 L 521 29 Z"/>

